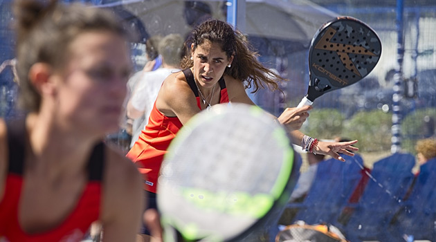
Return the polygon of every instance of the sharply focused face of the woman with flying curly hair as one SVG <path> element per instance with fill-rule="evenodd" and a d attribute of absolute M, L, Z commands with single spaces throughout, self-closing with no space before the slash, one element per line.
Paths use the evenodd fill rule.
<path fill-rule="evenodd" d="M 233 61 L 233 56 L 228 58 L 217 43 L 205 41 L 194 49 L 191 46 L 194 59 L 194 77 L 204 88 L 212 88 L 224 74 L 228 64 Z"/>

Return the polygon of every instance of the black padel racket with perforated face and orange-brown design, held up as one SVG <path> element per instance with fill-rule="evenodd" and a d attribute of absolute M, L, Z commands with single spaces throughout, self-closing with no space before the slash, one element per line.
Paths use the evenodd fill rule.
<path fill-rule="evenodd" d="M 353 17 L 324 24 L 309 48 L 309 89 L 298 107 L 311 105 L 324 93 L 352 85 L 379 62 L 381 41 L 376 32 Z"/>

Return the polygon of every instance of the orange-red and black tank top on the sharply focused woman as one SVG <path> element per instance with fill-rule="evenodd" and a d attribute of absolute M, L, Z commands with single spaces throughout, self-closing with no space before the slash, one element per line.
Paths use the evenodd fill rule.
<path fill-rule="evenodd" d="M 194 81 L 194 75 L 190 68 L 183 70 L 186 81 L 197 98 L 197 106 L 201 110 L 199 91 Z M 221 91 L 219 103 L 229 102 L 224 77 L 219 80 Z M 145 129 L 141 131 L 138 140 L 131 147 L 127 158 L 136 162 L 138 169 L 144 177 L 144 189 L 156 193 L 159 170 L 163 162 L 163 156 L 176 133 L 183 127 L 177 117 L 167 117 L 156 108 L 156 102 L 149 116 Z"/>

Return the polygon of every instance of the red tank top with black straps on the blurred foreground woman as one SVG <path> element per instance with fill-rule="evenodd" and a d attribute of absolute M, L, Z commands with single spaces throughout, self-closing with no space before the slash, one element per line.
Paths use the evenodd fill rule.
<path fill-rule="evenodd" d="M 73 211 L 52 230 L 28 234 L 22 229 L 18 219 L 21 189 L 26 182 L 23 177 L 27 141 L 24 120 L 7 122 L 7 128 L 9 159 L 4 195 L 0 201 L 0 241 L 81 241 L 91 223 L 100 216 L 105 145 L 96 145 L 89 157 L 88 182 Z"/>

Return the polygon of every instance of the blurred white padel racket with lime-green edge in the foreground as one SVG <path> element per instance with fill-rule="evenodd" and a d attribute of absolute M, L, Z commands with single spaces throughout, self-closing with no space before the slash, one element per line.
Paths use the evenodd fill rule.
<path fill-rule="evenodd" d="M 177 133 L 158 179 L 164 241 L 244 241 L 287 203 L 291 140 L 257 106 L 218 104 Z"/>

